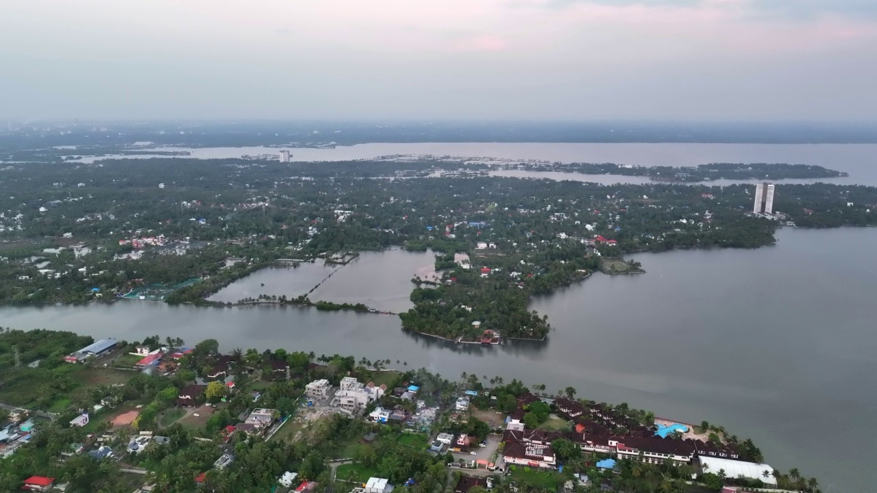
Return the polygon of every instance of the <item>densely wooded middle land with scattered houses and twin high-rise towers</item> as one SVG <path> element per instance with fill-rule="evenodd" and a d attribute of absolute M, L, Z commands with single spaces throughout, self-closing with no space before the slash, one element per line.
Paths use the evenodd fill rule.
<path fill-rule="evenodd" d="M 401 245 L 431 250 L 439 275 L 413 279 L 415 306 L 399 314 L 404 330 L 460 342 L 540 340 L 551 325 L 528 309 L 533 295 L 597 270 L 638 272 L 631 254 L 764 247 L 778 227 L 872 225 L 877 207 L 873 187 L 823 182 L 777 184 L 774 211 L 781 213 L 765 218 L 752 214 L 753 185 L 459 174 L 482 166 L 428 158 L 11 165 L 0 180 L 0 275 L 8 280 L 0 303 L 217 304 L 206 298 L 260 268 L 317 257 L 345 263 L 360 251 Z M 767 164 L 702 169 L 822 173 Z M 307 297 L 240 303 L 374 311 Z"/>

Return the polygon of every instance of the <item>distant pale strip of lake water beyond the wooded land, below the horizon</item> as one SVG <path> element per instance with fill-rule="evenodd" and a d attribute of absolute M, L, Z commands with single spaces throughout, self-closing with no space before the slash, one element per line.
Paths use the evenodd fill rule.
<path fill-rule="evenodd" d="M 275 154 L 273 147 L 161 147 L 163 151 L 189 151 L 197 159 L 239 158 L 243 155 Z M 293 161 L 348 161 L 395 154 L 494 158 L 515 161 L 614 162 L 640 166 L 696 166 L 710 162 L 786 162 L 813 164 L 850 174 L 822 180 L 877 186 L 877 144 L 604 144 L 604 143 L 506 143 L 433 142 L 416 144 L 360 144 L 332 149 L 290 148 Z M 83 158 L 93 162 L 110 157 L 146 159 L 156 155 Z M 186 157 L 186 156 L 182 156 Z M 559 174 L 574 179 L 573 174 Z M 586 181 L 610 178 L 585 175 Z M 640 177 L 618 176 L 608 183 L 638 182 Z M 645 180 L 647 182 L 647 180 Z M 785 182 L 785 181 L 784 181 Z M 791 181 L 789 181 L 791 182 Z M 723 183 L 717 183 L 723 184 Z"/>

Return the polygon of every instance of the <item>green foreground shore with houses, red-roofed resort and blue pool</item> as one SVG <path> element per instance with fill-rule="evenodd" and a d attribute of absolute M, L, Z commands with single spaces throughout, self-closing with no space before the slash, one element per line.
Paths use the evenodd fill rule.
<path fill-rule="evenodd" d="M 821 491 L 722 425 L 407 367 L 2 329 L 0 489 L 360 491 L 378 478 L 410 493 Z"/>

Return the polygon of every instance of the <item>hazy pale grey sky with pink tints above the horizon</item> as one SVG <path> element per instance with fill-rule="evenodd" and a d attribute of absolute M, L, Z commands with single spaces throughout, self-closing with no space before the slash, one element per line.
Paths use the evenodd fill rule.
<path fill-rule="evenodd" d="M 873 0 L 3 0 L 0 117 L 877 120 Z"/>

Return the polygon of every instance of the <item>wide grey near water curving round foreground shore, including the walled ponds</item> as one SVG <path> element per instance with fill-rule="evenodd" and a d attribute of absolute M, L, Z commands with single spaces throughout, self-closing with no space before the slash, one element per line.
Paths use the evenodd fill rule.
<path fill-rule="evenodd" d="M 126 300 L 5 307 L 0 320 L 128 340 L 153 333 L 189 343 L 216 338 L 226 351 L 284 347 L 389 358 L 394 367 L 430 368 L 452 379 L 463 371 L 502 375 L 551 391 L 573 385 L 580 397 L 724 425 L 754 439 L 767 463 L 816 475 L 824 490 L 831 483 L 832 491 L 873 490 L 877 229 L 784 229 L 777 236 L 775 247 L 757 250 L 638 254 L 645 275 L 595 275 L 534 299 L 532 308 L 554 327 L 544 344 L 453 345 L 403 332 L 394 316 L 279 306 Z M 370 293 L 381 293 L 374 303 L 407 297 L 412 268 L 431 263 L 426 254 L 369 255 L 339 268 L 330 279 L 339 285 L 327 282 L 326 294 L 364 303 Z M 307 278 L 302 288 L 278 285 L 291 294 L 319 277 L 270 270 L 246 282 L 265 275 L 267 288 L 298 274 Z M 379 287 L 381 275 L 393 281 Z"/>

